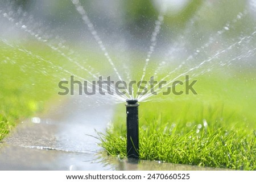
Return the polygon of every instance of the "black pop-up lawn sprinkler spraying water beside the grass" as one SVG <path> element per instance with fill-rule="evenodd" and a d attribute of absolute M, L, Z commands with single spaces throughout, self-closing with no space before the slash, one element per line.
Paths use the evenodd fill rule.
<path fill-rule="evenodd" d="M 137 99 L 126 102 L 127 157 L 139 159 L 139 104 Z"/>

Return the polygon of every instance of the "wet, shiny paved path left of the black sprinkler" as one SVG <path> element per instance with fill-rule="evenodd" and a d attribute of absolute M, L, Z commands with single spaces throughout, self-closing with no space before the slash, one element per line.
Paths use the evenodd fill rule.
<path fill-rule="evenodd" d="M 68 102 L 52 108 L 46 117 L 34 117 L 18 125 L 0 148 L 1 170 L 97 170 L 112 169 L 97 159 L 94 130 L 104 131 L 112 107 L 87 107 Z M 79 103 L 79 102 L 78 102 Z"/>

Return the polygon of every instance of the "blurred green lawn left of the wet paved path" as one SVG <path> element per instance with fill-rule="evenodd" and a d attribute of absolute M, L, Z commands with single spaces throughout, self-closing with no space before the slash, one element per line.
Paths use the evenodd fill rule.
<path fill-rule="evenodd" d="M 36 56 L 56 61 L 51 52 L 35 45 L 10 47 L 0 42 L 0 140 L 5 138 L 17 123 L 42 112 L 48 103 L 56 101 L 56 81 L 48 63 Z M 19 49 L 27 47 L 35 53 L 29 55 Z M 50 55 L 50 56 L 49 56 Z M 46 72 L 43 72 L 47 70 Z"/>

